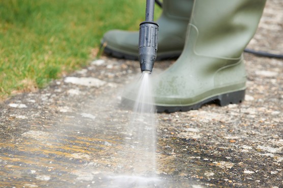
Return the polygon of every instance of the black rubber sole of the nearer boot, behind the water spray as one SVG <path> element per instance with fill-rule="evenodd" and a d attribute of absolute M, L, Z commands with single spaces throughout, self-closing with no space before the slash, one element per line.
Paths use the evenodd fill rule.
<path fill-rule="evenodd" d="M 214 96 L 200 103 L 196 103 L 196 104 L 189 105 L 189 106 L 158 106 L 156 105 L 155 108 L 158 113 L 161 113 L 161 112 L 172 113 L 172 112 L 178 112 L 178 111 L 185 112 L 189 110 L 197 110 L 205 104 L 217 104 L 219 106 L 227 106 L 229 104 L 239 104 L 243 102 L 244 99 L 245 99 L 245 89 Z M 123 98 L 121 104 L 123 105 L 123 107 L 125 106 L 129 107 L 128 106 L 129 104 L 133 105 L 134 103 L 135 102 L 132 100 Z"/>

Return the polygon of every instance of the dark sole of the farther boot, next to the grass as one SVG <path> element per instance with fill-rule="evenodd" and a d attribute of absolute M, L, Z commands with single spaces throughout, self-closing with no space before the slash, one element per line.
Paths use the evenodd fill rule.
<path fill-rule="evenodd" d="M 130 55 L 130 54 L 126 54 L 123 52 L 118 52 L 118 51 L 108 48 L 107 46 L 104 47 L 104 53 L 112 57 L 116 57 L 120 59 L 138 60 L 137 55 Z M 158 60 L 165 60 L 165 59 L 177 59 L 180 55 L 181 55 L 181 52 L 180 53 L 167 53 L 167 54 L 162 54 L 162 55 L 157 54 L 156 60 L 158 61 Z"/>

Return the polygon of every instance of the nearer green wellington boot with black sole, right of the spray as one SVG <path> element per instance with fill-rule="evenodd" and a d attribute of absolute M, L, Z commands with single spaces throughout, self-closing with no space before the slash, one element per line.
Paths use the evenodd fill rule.
<path fill-rule="evenodd" d="M 196 0 L 186 44 L 172 67 L 155 75 L 158 112 L 188 111 L 206 103 L 244 100 L 243 50 L 258 27 L 266 0 Z M 124 100 L 134 101 L 133 90 Z"/>

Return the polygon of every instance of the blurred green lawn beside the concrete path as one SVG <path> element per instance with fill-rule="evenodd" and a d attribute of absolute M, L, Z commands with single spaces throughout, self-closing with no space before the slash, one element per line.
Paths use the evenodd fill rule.
<path fill-rule="evenodd" d="M 107 30 L 138 29 L 145 2 L 0 1 L 0 100 L 88 65 Z"/>

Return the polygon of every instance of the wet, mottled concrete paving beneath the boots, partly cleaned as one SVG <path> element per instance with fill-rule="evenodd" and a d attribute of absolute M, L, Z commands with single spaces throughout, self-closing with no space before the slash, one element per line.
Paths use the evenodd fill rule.
<path fill-rule="evenodd" d="M 267 1 L 249 48 L 283 52 L 282 7 Z M 157 172 L 139 179 L 140 187 L 283 187 L 283 60 L 245 59 L 242 104 L 156 114 Z M 155 70 L 173 63 L 156 62 Z M 45 89 L 4 101 L 0 186 L 137 186 L 124 176 L 132 168 L 124 141 L 132 112 L 121 108 L 120 93 L 138 66 L 102 56 Z"/>

